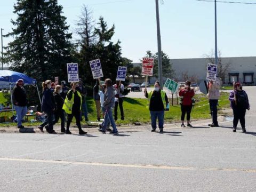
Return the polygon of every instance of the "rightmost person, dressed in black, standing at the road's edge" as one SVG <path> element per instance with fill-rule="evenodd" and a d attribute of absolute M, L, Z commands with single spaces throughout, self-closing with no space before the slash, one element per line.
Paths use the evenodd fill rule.
<path fill-rule="evenodd" d="M 236 132 L 238 121 L 240 121 L 243 133 L 246 133 L 245 129 L 245 113 L 246 109 L 250 110 L 250 104 L 247 93 L 242 90 L 242 84 L 235 83 L 235 91 L 231 91 L 229 95 L 230 107 L 233 109 L 233 132 Z"/>

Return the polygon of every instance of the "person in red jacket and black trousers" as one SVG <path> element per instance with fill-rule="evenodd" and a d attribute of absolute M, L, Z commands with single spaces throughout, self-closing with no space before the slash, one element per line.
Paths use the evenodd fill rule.
<path fill-rule="evenodd" d="M 179 89 L 180 95 L 180 105 L 181 105 L 181 126 L 186 127 L 184 125 L 185 115 L 187 114 L 187 126 L 193 127 L 190 124 L 190 113 L 192 110 L 192 98 L 195 95 L 194 89 L 190 88 L 191 82 L 186 81 L 185 89 Z"/>

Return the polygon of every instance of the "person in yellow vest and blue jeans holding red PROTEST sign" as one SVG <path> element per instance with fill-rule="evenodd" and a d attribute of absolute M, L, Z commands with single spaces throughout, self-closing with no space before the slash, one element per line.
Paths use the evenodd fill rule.
<path fill-rule="evenodd" d="M 163 133 L 164 129 L 164 111 L 165 107 L 169 103 L 166 93 L 161 90 L 161 85 L 158 81 L 156 81 L 154 85 L 154 90 L 147 92 L 147 88 L 145 88 L 145 97 L 148 98 L 148 105 L 151 117 L 151 132 L 156 131 L 156 119 L 158 118 L 158 127 L 160 133 Z"/>

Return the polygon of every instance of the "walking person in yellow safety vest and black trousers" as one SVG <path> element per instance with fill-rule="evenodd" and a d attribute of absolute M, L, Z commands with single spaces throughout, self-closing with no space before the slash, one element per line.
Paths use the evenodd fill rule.
<path fill-rule="evenodd" d="M 69 126 L 73 117 L 75 116 L 76 125 L 79 129 L 79 134 L 82 135 L 82 134 L 87 134 L 87 132 L 83 131 L 81 127 L 82 96 L 76 90 L 77 86 L 78 86 L 77 82 L 71 82 L 70 84 L 71 90 L 68 91 L 68 94 L 64 101 L 62 109 L 65 110 L 65 112 L 68 115 L 66 134 L 72 134 L 69 131 Z"/>

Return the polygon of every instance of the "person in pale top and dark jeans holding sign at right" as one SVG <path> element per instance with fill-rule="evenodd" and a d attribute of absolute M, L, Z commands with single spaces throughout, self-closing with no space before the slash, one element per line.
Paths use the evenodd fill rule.
<path fill-rule="evenodd" d="M 218 127 L 218 101 L 220 98 L 220 81 L 221 79 L 219 77 L 216 78 L 216 81 L 209 81 L 208 86 L 208 99 L 209 99 L 209 105 L 210 105 L 210 111 L 212 116 L 212 124 L 209 124 L 211 127 Z"/>

